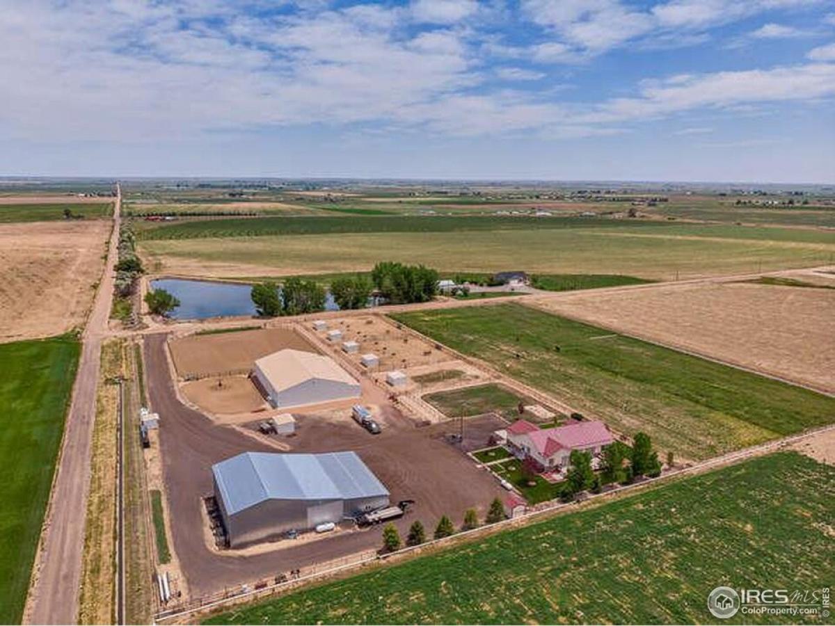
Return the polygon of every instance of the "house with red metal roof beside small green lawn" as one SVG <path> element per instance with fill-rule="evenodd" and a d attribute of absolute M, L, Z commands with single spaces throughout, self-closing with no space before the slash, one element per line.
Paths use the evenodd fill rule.
<path fill-rule="evenodd" d="M 600 454 L 615 437 L 603 422 L 575 422 L 567 426 L 539 428 L 527 420 L 517 420 L 508 429 L 508 447 L 520 458 L 531 458 L 545 471 L 569 465 L 572 450 Z"/>

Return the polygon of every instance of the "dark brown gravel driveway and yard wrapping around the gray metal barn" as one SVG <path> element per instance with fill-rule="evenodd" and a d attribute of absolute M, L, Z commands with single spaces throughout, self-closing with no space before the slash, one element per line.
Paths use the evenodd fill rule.
<path fill-rule="evenodd" d="M 238 333 L 232 333 L 237 335 Z M 195 596 L 240 583 L 306 568 L 352 553 L 378 548 L 381 529 L 337 533 L 309 543 L 242 558 L 217 553 L 205 543 L 200 497 L 212 491 L 211 465 L 240 452 L 281 452 L 233 427 L 216 424 L 178 401 L 165 356 L 165 336 L 145 340 L 144 355 L 151 406 L 161 416 L 165 497 L 169 503 L 173 548 Z M 373 436 L 346 416 L 344 423 L 318 416 L 301 416 L 296 436 L 281 438 L 292 452 L 353 450 L 391 492 L 392 502 L 413 498 L 416 505 L 397 521 L 402 537 L 416 519 L 432 533 L 443 514 L 458 525 L 468 507 L 483 517 L 493 497 L 504 490 L 488 472 L 444 442 L 441 427 L 418 428 L 392 406 L 382 406 L 383 432 Z M 457 432 L 458 424 L 448 425 Z M 474 431 L 473 431 L 474 432 Z"/>

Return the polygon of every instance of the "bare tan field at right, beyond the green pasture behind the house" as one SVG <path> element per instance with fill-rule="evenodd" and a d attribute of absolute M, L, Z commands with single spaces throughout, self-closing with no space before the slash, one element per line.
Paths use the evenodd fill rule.
<path fill-rule="evenodd" d="M 835 392 L 835 290 L 663 285 L 539 299 L 540 308 Z"/>

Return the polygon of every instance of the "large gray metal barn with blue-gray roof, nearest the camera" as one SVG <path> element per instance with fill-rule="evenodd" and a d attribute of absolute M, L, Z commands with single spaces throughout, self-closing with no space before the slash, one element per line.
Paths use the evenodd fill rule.
<path fill-rule="evenodd" d="M 388 490 L 356 452 L 244 452 L 215 463 L 212 474 L 232 548 L 388 504 Z"/>

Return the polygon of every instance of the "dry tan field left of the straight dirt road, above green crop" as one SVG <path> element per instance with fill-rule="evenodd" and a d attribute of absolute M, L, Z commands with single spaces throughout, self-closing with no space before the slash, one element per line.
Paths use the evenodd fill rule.
<path fill-rule="evenodd" d="M 110 227 L 104 220 L 0 225 L 0 341 L 83 324 Z"/>

